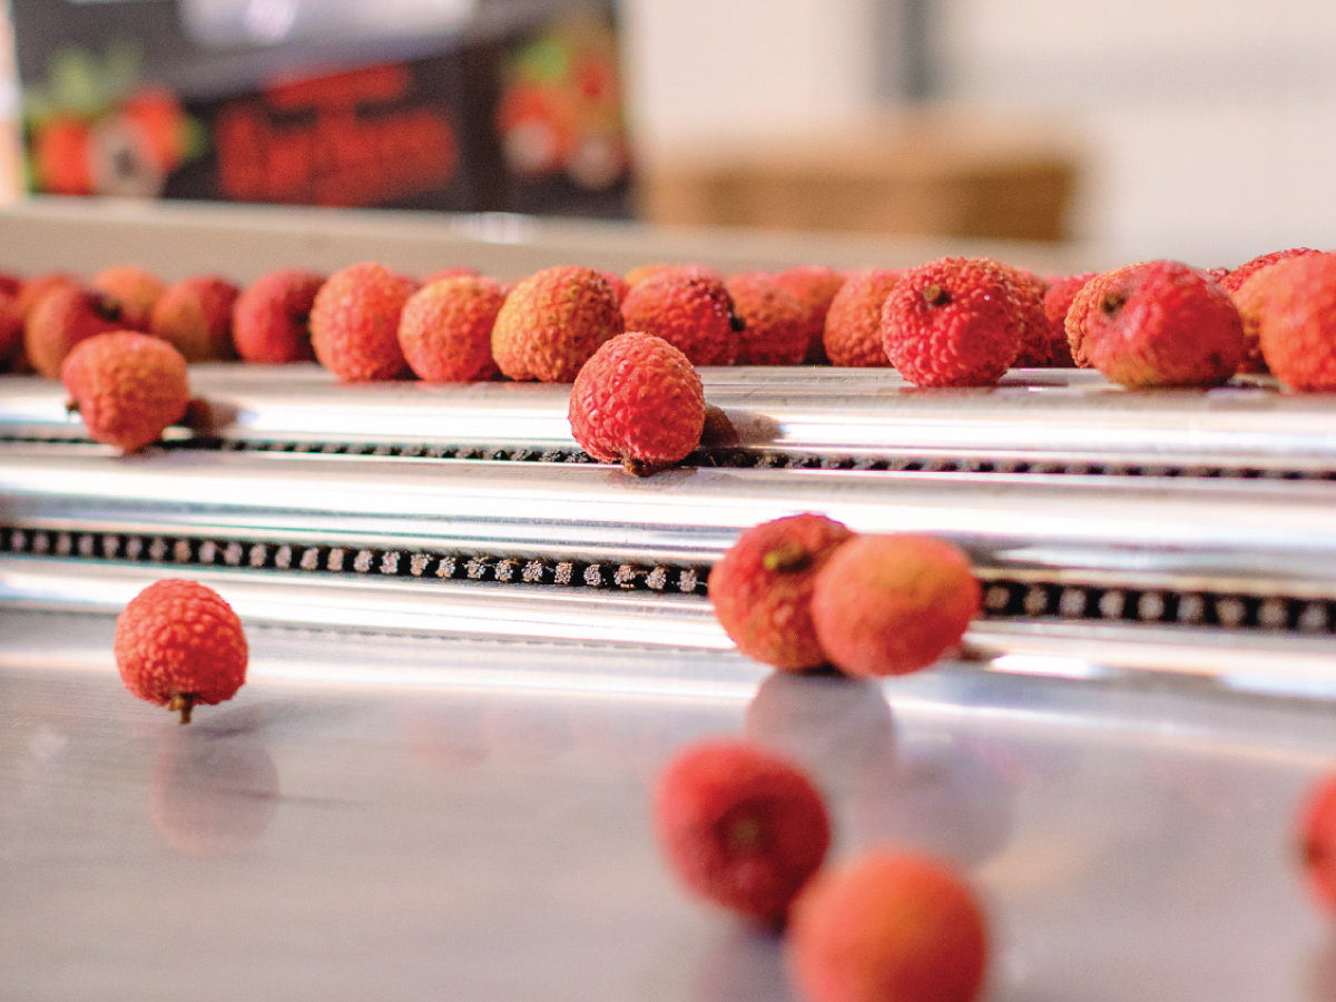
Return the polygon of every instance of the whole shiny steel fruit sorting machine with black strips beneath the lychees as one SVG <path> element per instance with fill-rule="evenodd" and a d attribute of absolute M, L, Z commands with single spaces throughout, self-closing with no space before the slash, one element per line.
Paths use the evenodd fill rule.
<path fill-rule="evenodd" d="M 840 851 L 970 875 L 987 998 L 1332 997 L 1292 827 L 1336 754 L 1336 405 L 703 375 L 725 420 L 648 478 L 580 453 L 560 386 L 194 366 L 188 422 L 122 457 L 0 377 L 0 995 L 792 998 L 783 938 L 684 899 L 647 820 L 673 749 L 735 733 L 812 771 Z M 709 566 L 803 510 L 962 545 L 958 656 L 733 652 Z M 253 645 L 188 728 L 111 659 L 164 576 Z"/>

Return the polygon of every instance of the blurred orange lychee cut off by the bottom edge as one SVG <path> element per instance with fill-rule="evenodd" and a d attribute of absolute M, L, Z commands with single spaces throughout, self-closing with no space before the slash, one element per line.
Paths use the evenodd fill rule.
<path fill-rule="evenodd" d="M 810 1002 L 971 1002 L 987 954 L 974 892 L 912 852 L 872 850 L 822 872 L 790 915 L 788 967 Z"/>

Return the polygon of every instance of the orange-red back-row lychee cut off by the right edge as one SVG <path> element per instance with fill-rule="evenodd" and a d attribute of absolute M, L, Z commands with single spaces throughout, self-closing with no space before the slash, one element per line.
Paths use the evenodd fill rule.
<path fill-rule="evenodd" d="M 1336 390 L 1336 254 L 1291 258 L 1255 281 L 1267 283 L 1257 327 L 1267 367 L 1292 390 Z"/>

